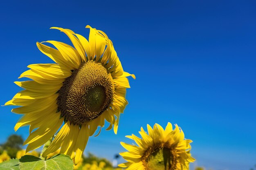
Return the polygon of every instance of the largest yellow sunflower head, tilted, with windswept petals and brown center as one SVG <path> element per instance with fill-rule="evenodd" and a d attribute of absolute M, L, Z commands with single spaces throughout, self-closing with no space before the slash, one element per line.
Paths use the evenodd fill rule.
<path fill-rule="evenodd" d="M 89 41 L 70 29 L 52 27 L 64 32 L 74 47 L 58 41 L 37 42 L 38 49 L 55 63 L 31 64 L 19 78 L 32 80 L 15 82 L 25 90 L 5 105 L 21 106 L 12 112 L 25 114 L 15 131 L 30 125 L 24 142 L 28 144 L 26 152 L 45 144 L 60 129 L 43 157 L 61 148 L 60 153 L 70 155 L 77 164 L 88 137 L 104 126 L 105 119 L 110 123 L 106 130 L 114 125 L 117 133 L 120 113 L 128 104 L 126 77 L 135 79 L 135 75 L 124 72 L 112 41 L 103 31 L 86 28 L 90 29 Z"/>

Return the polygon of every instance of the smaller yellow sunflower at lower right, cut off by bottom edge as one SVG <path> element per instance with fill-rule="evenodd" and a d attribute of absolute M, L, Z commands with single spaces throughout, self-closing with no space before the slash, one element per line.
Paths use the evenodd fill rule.
<path fill-rule="evenodd" d="M 183 131 L 168 122 L 165 130 L 159 124 L 153 129 L 147 125 L 148 134 L 141 127 L 139 134 L 142 139 L 135 135 L 126 136 L 136 142 L 130 145 L 121 142 L 128 152 L 120 155 L 128 162 L 119 164 L 120 167 L 128 167 L 126 170 L 189 170 L 189 163 L 195 161 L 191 157 L 189 143 L 184 139 Z"/>

